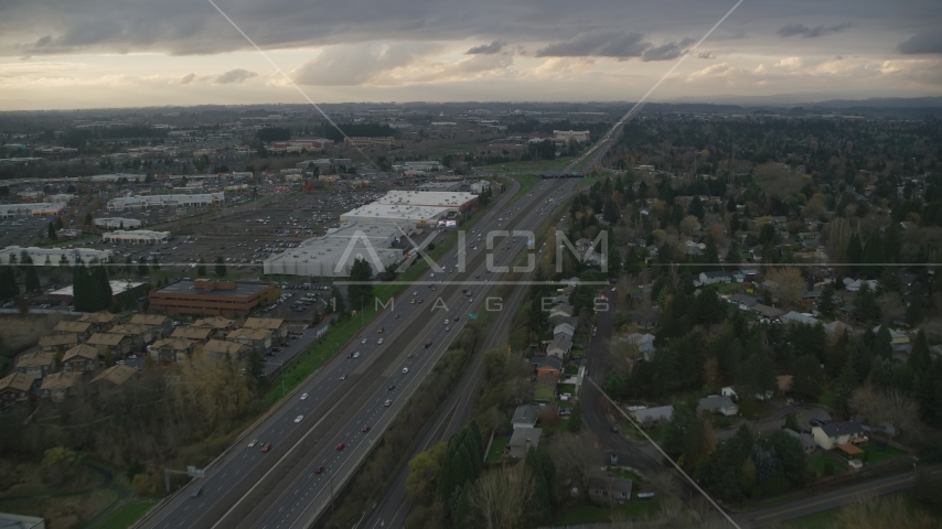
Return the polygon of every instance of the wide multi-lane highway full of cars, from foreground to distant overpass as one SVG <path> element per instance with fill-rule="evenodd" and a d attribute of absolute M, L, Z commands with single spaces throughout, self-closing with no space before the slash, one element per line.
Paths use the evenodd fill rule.
<path fill-rule="evenodd" d="M 505 193 L 475 227 L 478 234 L 469 234 L 463 247 L 446 256 L 441 264 L 449 273 L 429 272 L 410 287 L 341 355 L 229 447 L 207 468 L 205 478 L 165 503 L 141 526 L 306 526 L 329 503 L 330 489 L 355 472 L 372 442 L 448 348 L 468 314 L 479 310 L 480 295 L 496 278 L 496 272 L 486 269 L 485 258 L 492 261 L 491 269 L 501 267 L 525 245 L 524 237 L 499 237 L 497 248 L 502 249 L 486 252 L 484 238 L 478 236 L 490 230 L 535 228 L 539 215 L 545 218 L 547 213 L 546 206 L 537 206 L 571 183 L 544 182 L 510 207 L 507 202 L 516 187 Z M 462 260 L 467 271 L 456 272 L 456 264 Z M 451 322 L 456 316 L 457 324 Z M 446 319 L 449 324 L 445 324 Z M 430 344 L 428 348 L 426 344 Z M 304 393 L 307 398 L 302 398 Z M 257 443 L 250 442 L 255 440 Z M 320 467 L 323 469 L 317 472 Z M 199 489 L 200 495 L 191 496 Z"/>

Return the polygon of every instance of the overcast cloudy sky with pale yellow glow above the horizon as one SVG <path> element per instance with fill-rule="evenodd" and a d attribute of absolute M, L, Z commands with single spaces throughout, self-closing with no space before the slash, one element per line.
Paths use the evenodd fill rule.
<path fill-rule="evenodd" d="M 214 0 L 314 101 L 942 95 L 940 0 Z M 0 110 L 302 102 L 208 0 L 0 1 Z"/>

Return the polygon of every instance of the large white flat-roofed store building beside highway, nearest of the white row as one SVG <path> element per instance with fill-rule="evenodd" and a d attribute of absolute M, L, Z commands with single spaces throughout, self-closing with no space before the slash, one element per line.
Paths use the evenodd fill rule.
<path fill-rule="evenodd" d="M 373 272 L 378 273 L 403 260 L 403 249 L 394 245 L 399 242 L 404 231 L 411 233 L 413 225 L 347 223 L 328 235 L 301 242 L 298 248 L 269 257 L 263 264 L 264 271 L 266 274 L 345 278 L 353 261 L 362 257 L 373 267 Z"/>

